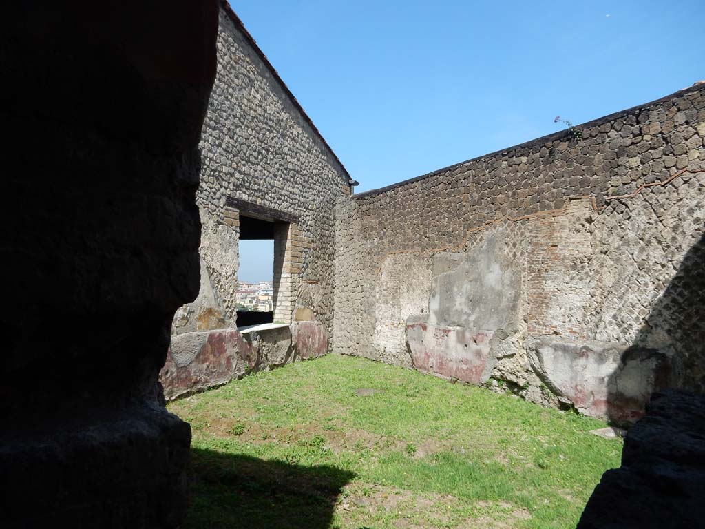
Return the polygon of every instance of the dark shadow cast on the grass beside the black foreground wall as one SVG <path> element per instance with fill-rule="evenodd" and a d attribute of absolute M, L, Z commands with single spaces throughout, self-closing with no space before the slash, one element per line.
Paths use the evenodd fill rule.
<path fill-rule="evenodd" d="M 191 507 L 184 528 L 328 529 L 355 474 L 192 449 Z"/>

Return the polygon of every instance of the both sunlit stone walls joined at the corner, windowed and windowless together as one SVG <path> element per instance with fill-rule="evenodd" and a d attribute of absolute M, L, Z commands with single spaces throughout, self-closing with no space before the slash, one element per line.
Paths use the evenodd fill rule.
<path fill-rule="evenodd" d="M 705 388 L 705 87 L 388 188 L 350 176 L 228 4 L 200 147 L 201 290 L 167 396 L 328 351 L 615 422 Z M 243 217 L 274 320 L 238 330 Z"/>

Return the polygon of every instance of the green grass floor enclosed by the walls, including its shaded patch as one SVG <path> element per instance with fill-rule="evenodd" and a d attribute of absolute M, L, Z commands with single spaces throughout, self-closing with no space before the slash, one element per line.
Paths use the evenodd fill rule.
<path fill-rule="evenodd" d="M 168 408 L 193 430 L 186 528 L 575 528 L 622 449 L 599 420 L 338 355 Z"/>

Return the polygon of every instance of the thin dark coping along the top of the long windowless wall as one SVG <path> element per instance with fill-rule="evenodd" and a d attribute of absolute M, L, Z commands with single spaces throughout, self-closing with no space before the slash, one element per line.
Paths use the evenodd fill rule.
<path fill-rule="evenodd" d="M 653 105 L 661 104 L 663 102 L 668 101 L 669 99 L 675 99 L 675 97 L 683 95 L 687 92 L 697 92 L 698 90 L 705 90 L 705 85 L 701 85 L 699 83 L 696 83 L 696 84 L 692 85 L 691 87 L 683 88 L 682 90 L 678 90 L 677 92 L 673 92 L 673 94 L 661 97 L 660 99 L 654 99 L 654 101 L 650 101 L 650 102 L 644 103 L 644 104 L 639 104 L 636 107 L 631 107 L 629 109 L 620 110 L 617 112 L 613 112 L 613 114 L 608 114 L 607 116 L 602 116 L 601 118 L 593 119 L 592 121 L 586 121 L 585 123 L 580 123 L 580 125 L 575 125 L 574 128 L 581 129 L 581 128 L 599 126 L 599 125 L 602 125 L 603 123 L 607 123 L 608 121 L 613 121 L 617 118 L 622 118 L 622 117 L 628 116 L 630 114 L 634 114 L 635 112 L 637 112 L 639 110 L 649 108 Z M 407 184 L 415 183 L 417 181 L 424 180 L 425 178 L 430 178 L 431 176 L 436 176 L 437 174 L 441 174 L 445 171 L 450 171 L 450 169 L 455 169 L 458 166 L 469 164 L 470 162 L 475 162 L 479 159 L 489 158 L 492 156 L 496 156 L 497 154 L 503 154 L 505 152 L 509 152 L 509 151 L 513 151 L 513 150 L 517 150 L 517 149 L 525 149 L 527 147 L 535 147 L 536 145 L 540 145 L 541 143 L 546 143 L 549 141 L 561 140 L 561 139 L 565 138 L 565 134 L 566 134 L 567 130 L 568 129 L 558 130 L 558 132 L 547 134 L 545 136 L 540 136 L 539 138 L 534 138 L 534 140 L 529 140 L 527 142 L 519 143 L 517 145 L 513 145 L 512 147 L 505 147 L 504 149 L 496 150 L 494 152 L 489 152 L 487 154 L 482 154 L 480 156 L 464 160 L 463 162 L 458 162 L 457 164 L 449 165 L 447 167 L 443 167 L 441 169 L 436 169 L 435 171 L 431 171 L 430 173 L 422 174 L 421 176 L 415 176 L 414 178 L 408 178 L 407 180 L 403 180 L 403 181 L 400 181 L 397 183 L 392 183 L 389 186 L 384 186 L 383 188 L 376 188 L 376 189 L 370 189 L 367 191 L 362 191 L 362 193 L 357 193 L 356 195 L 352 195 L 350 198 L 357 199 L 357 198 L 364 198 L 364 197 L 371 196 L 371 195 L 378 195 L 378 194 L 384 193 L 385 191 L 388 191 L 388 190 L 400 188 L 402 186 L 406 186 Z"/>

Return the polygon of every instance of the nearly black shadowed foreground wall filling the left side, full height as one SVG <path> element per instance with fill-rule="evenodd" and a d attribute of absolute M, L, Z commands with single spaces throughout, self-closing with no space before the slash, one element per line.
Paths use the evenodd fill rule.
<path fill-rule="evenodd" d="M 11 2 L 0 18 L 0 519 L 176 527 L 190 427 L 157 382 L 197 295 L 215 1 Z"/>

